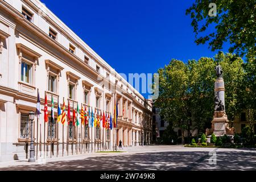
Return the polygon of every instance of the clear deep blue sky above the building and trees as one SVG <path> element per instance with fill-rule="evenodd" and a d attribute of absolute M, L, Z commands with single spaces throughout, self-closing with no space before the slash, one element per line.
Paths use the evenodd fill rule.
<path fill-rule="evenodd" d="M 187 62 L 217 53 L 194 43 L 191 18 L 185 15 L 192 1 L 42 2 L 118 73 L 155 73 L 172 58 Z"/>

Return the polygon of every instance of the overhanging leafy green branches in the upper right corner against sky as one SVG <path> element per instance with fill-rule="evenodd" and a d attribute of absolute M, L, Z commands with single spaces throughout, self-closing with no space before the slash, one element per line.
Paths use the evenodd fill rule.
<path fill-rule="evenodd" d="M 217 16 L 209 16 L 210 3 L 217 6 Z M 212 51 L 229 41 L 229 52 L 255 56 L 255 0 L 196 0 L 186 14 L 191 16 L 196 44 L 209 42 Z M 211 32 L 209 30 L 215 31 Z"/>

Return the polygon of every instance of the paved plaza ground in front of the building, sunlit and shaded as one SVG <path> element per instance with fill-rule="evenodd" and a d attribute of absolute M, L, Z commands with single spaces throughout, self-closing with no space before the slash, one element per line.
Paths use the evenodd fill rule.
<path fill-rule="evenodd" d="M 255 170 L 256 149 L 217 148 L 216 164 L 209 164 L 216 148 L 138 146 L 122 153 L 92 153 L 46 159 L 46 163 L 16 160 L 0 163 L 0 170 Z M 212 160 L 210 160 L 212 162 Z"/>

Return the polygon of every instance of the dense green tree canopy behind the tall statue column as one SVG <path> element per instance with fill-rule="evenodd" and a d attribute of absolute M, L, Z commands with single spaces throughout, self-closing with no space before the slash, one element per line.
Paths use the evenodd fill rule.
<path fill-rule="evenodd" d="M 205 133 L 214 113 L 214 67 L 220 63 L 225 81 L 225 109 L 230 121 L 246 109 L 255 110 L 255 60 L 243 61 L 232 53 L 218 53 L 213 58 L 201 57 L 188 63 L 172 59 L 158 70 L 159 97 L 155 106 L 170 125 L 184 130 L 193 127 Z M 253 97 L 253 98 L 251 98 Z M 170 130 L 169 129 L 169 130 Z M 169 131 L 168 130 L 168 131 Z"/>

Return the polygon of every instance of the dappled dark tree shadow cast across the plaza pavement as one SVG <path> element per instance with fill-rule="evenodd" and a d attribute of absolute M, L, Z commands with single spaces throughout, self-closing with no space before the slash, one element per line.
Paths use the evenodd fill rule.
<path fill-rule="evenodd" d="M 255 170 L 255 152 L 217 151 L 217 164 L 208 152 L 148 152 L 133 155 L 95 156 L 79 160 L 14 166 L 0 170 Z"/>

